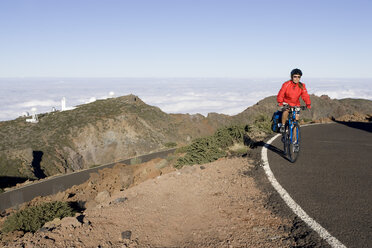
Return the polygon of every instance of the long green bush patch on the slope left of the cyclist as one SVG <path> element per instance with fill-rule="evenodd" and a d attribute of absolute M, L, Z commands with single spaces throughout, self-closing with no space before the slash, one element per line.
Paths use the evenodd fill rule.
<path fill-rule="evenodd" d="M 234 143 L 243 143 L 248 126 L 231 126 L 218 129 L 213 136 L 198 138 L 190 145 L 178 149 L 185 152 L 175 164 L 176 168 L 184 165 L 205 164 L 227 155 L 226 148 Z"/>

